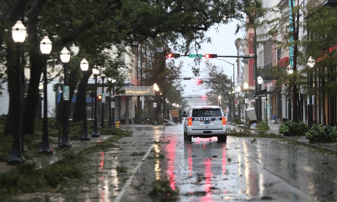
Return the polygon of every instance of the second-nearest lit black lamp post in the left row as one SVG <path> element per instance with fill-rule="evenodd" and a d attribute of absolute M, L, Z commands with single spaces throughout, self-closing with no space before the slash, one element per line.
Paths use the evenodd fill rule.
<path fill-rule="evenodd" d="M 42 144 L 39 148 L 39 153 L 52 154 L 53 149 L 49 146 L 49 137 L 48 137 L 48 99 L 47 99 L 47 59 L 48 55 L 52 51 L 52 42 L 48 36 L 44 36 L 40 42 L 41 53 L 45 56 L 46 64 L 43 68 L 43 135 L 42 135 Z"/>

